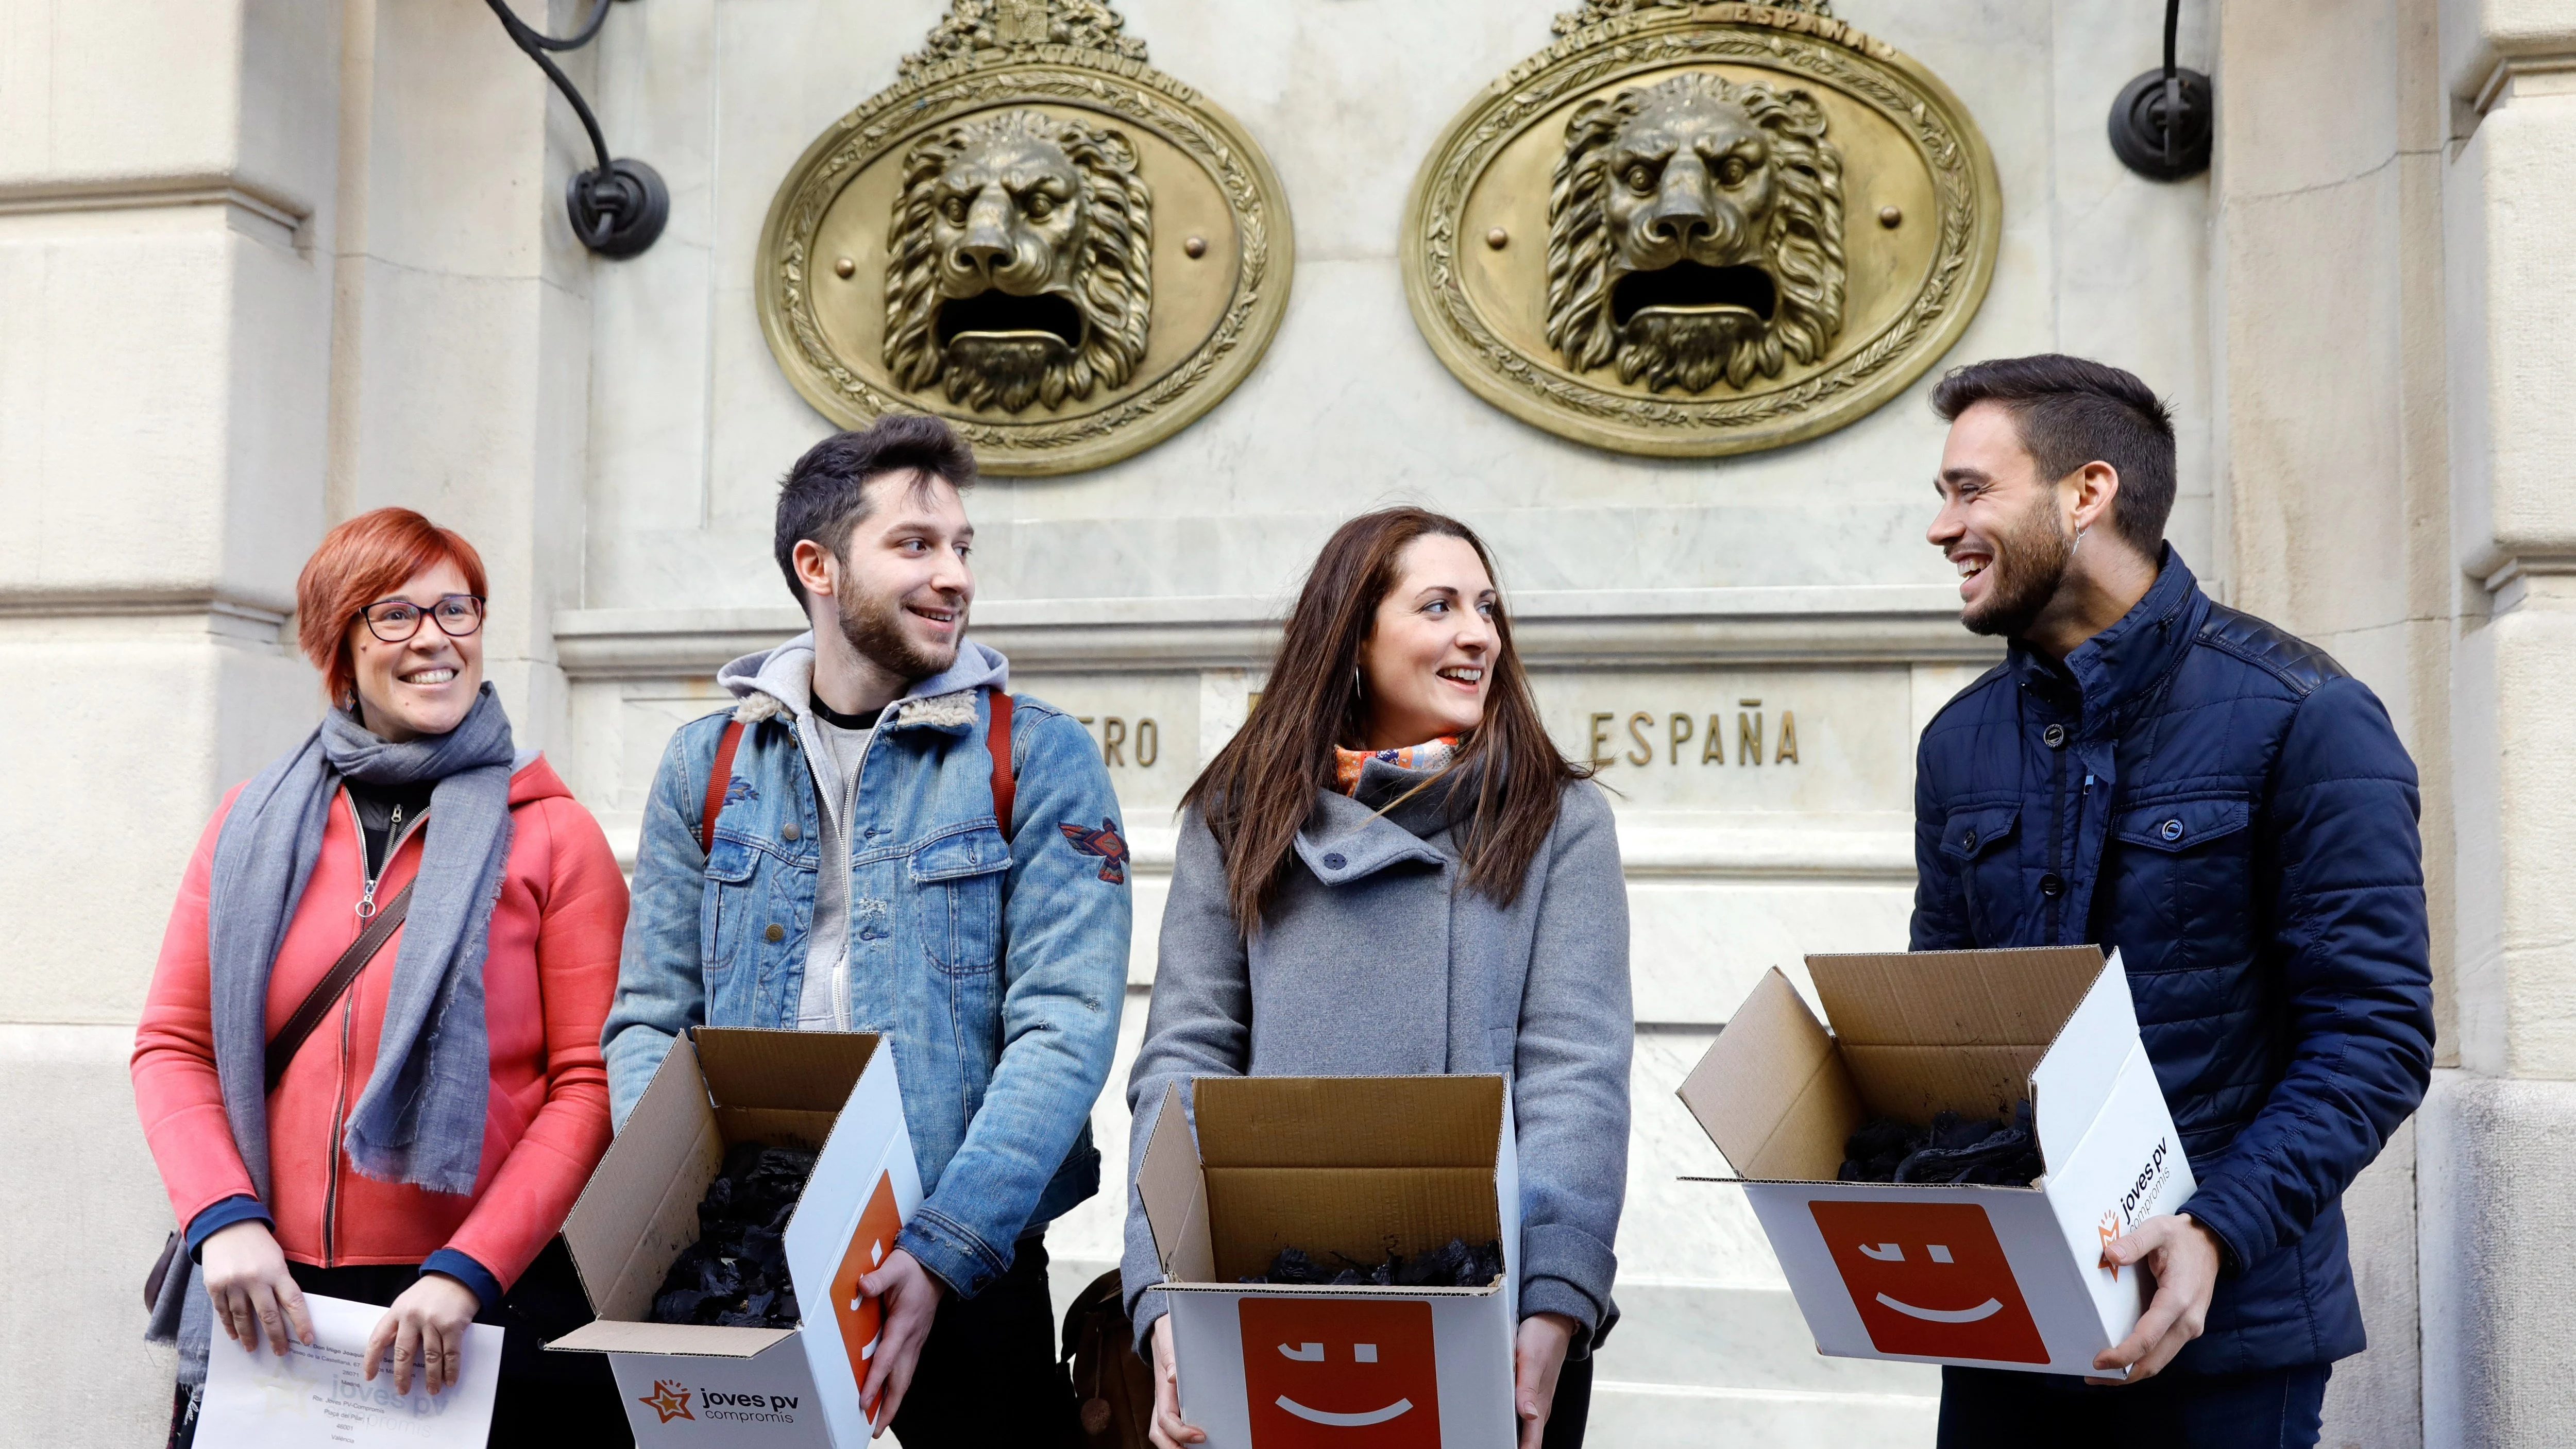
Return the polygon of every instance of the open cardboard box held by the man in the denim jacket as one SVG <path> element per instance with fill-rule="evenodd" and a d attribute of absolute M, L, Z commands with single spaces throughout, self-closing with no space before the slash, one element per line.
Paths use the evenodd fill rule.
<path fill-rule="evenodd" d="M 788 1217 L 799 1328 L 647 1323 L 734 1143 L 822 1156 Z M 866 1032 L 696 1027 L 582 1186 L 564 1246 L 598 1320 L 549 1349 L 608 1354 L 636 1444 L 858 1449 L 878 1310 L 858 1279 L 922 1202 L 894 1053 Z"/>

